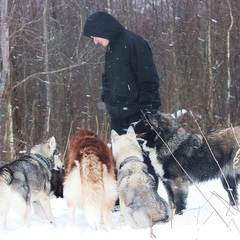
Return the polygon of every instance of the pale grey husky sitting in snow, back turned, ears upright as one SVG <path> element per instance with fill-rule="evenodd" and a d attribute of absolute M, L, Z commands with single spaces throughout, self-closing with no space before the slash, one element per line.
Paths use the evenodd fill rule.
<path fill-rule="evenodd" d="M 111 131 L 113 158 L 116 162 L 120 212 L 125 224 L 134 229 L 168 222 L 170 206 L 157 193 L 154 177 L 144 163 L 133 127 L 126 134 Z"/>

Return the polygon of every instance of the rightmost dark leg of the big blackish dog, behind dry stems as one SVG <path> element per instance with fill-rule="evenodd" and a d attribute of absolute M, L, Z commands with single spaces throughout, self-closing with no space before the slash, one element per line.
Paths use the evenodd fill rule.
<path fill-rule="evenodd" d="M 239 176 L 234 178 L 230 175 L 227 175 L 226 180 L 227 180 L 228 184 L 226 183 L 225 179 L 223 177 L 221 177 L 221 182 L 222 182 L 223 188 L 228 193 L 229 204 L 231 206 L 235 206 L 238 204 L 237 183 L 239 182 Z"/>

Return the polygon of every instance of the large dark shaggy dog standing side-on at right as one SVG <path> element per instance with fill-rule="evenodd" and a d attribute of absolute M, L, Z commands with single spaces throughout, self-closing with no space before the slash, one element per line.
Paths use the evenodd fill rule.
<path fill-rule="evenodd" d="M 239 149 L 239 126 L 215 131 L 203 138 L 186 131 L 169 114 L 153 114 L 149 123 L 142 135 L 142 147 L 163 180 L 175 214 L 182 214 L 186 209 L 188 187 L 192 182 L 216 178 L 221 179 L 230 205 L 238 204 L 240 169 L 234 169 L 233 163 Z"/>

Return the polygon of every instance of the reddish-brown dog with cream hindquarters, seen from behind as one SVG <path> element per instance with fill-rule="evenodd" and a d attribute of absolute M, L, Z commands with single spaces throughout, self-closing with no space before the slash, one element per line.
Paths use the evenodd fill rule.
<path fill-rule="evenodd" d="M 70 141 L 65 167 L 63 195 L 69 210 L 68 224 L 74 222 L 75 208 L 81 207 L 93 229 L 99 228 L 101 220 L 111 228 L 117 184 L 109 147 L 92 131 L 81 129 Z"/>

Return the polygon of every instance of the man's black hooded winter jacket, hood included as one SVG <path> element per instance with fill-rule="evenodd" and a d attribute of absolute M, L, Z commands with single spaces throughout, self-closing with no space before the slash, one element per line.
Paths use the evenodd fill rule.
<path fill-rule="evenodd" d="M 159 77 L 146 40 L 125 29 L 106 12 L 88 17 L 84 35 L 109 40 L 102 75 L 102 101 L 111 118 L 121 120 L 140 114 L 140 109 L 160 107 Z"/>

